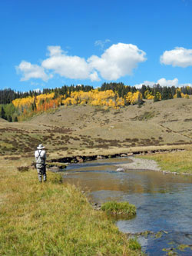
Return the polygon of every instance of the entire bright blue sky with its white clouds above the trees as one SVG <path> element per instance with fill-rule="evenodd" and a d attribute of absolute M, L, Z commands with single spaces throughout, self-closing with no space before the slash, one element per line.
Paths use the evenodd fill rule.
<path fill-rule="evenodd" d="M 0 88 L 192 86 L 192 0 L 0 1 Z"/>

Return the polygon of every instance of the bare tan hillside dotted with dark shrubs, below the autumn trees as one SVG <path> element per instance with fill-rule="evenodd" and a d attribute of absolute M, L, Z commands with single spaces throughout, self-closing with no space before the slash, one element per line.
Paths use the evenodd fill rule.
<path fill-rule="evenodd" d="M 192 100 L 145 101 L 118 110 L 78 105 L 35 116 L 31 121 L 0 122 L 2 154 L 31 154 L 39 143 L 51 155 L 110 154 L 131 148 L 180 148 L 192 142 Z"/>

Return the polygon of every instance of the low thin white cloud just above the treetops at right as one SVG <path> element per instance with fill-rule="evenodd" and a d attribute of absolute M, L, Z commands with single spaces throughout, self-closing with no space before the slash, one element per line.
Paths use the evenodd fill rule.
<path fill-rule="evenodd" d="M 187 83 L 187 84 L 179 84 L 179 80 L 177 78 L 174 78 L 173 80 L 167 80 L 165 78 L 161 78 L 157 81 L 144 81 L 141 84 L 138 85 L 134 85 L 136 88 L 141 88 L 142 85 L 149 85 L 149 86 L 153 86 L 153 85 L 161 85 L 161 86 L 167 86 L 167 87 L 171 87 L 171 86 L 175 86 L 175 87 L 182 87 L 182 86 L 192 86 L 192 84 Z"/>

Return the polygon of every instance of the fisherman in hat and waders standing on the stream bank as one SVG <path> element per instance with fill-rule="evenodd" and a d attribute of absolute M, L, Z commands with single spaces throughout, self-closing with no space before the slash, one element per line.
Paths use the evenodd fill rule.
<path fill-rule="evenodd" d="M 43 175 L 43 181 L 45 182 L 47 180 L 46 165 L 45 165 L 46 153 L 45 153 L 45 150 L 43 150 L 43 148 L 45 147 L 40 144 L 37 147 L 38 150 L 35 151 L 35 162 L 36 162 L 36 168 L 38 171 L 39 182 L 42 182 L 42 175 Z"/>

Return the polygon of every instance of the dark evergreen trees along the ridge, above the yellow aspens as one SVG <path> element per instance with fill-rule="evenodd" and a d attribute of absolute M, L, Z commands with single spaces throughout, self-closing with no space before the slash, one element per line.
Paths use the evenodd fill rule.
<path fill-rule="evenodd" d="M 12 103 L 13 100 L 16 98 L 27 98 L 27 97 L 33 97 L 37 95 L 45 95 L 45 94 L 50 94 L 52 92 L 55 93 L 55 98 L 58 98 L 59 95 L 65 95 L 65 98 L 68 98 L 71 95 L 71 92 L 74 91 L 91 91 L 93 90 L 93 86 L 91 85 L 64 85 L 61 88 L 44 88 L 43 91 L 14 91 L 11 88 L 0 90 L 0 105 L 6 105 L 9 103 Z M 125 95 L 127 95 L 128 92 L 136 92 L 136 91 L 141 91 L 141 94 L 143 98 L 146 98 L 146 95 L 150 94 L 155 97 L 157 92 L 161 94 L 161 99 L 169 99 L 169 98 L 174 98 L 174 95 L 177 93 L 177 87 L 172 86 L 172 87 L 167 87 L 167 86 L 161 86 L 161 85 L 142 85 L 141 88 L 135 88 L 134 86 L 130 85 L 124 85 L 124 83 L 119 82 L 110 82 L 106 83 L 104 82 L 101 85 L 101 88 L 98 88 L 98 91 L 107 91 L 107 90 L 112 90 L 118 93 L 118 97 L 124 98 Z M 183 86 L 180 89 L 180 93 L 183 93 L 184 95 L 192 95 L 192 88 L 190 86 Z M 146 94 L 147 91 L 147 94 Z M 179 94 L 179 92 L 178 92 Z"/>

